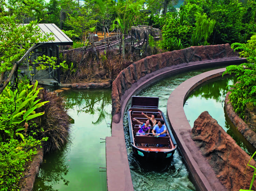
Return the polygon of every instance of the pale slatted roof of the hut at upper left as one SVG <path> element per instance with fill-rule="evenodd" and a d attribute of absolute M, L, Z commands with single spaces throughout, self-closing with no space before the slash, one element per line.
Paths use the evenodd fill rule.
<path fill-rule="evenodd" d="M 47 33 L 53 33 L 55 40 L 45 42 L 44 44 L 46 46 L 49 46 L 49 44 L 55 44 L 58 46 L 73 45 L 73 41 L 65 33 L 63 33 L 63 31 L 61 31 L 55 24 L 39 23 L 37 25 L 42 31 L 43 35 L 46 35 Z"/>

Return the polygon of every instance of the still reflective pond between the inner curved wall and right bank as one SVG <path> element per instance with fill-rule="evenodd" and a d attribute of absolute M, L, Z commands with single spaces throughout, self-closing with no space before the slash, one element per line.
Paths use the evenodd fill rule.
<path fill-rule="evenodd" d="M 236 141 L 236 143 L 250 156 L 255 152 L 255 148 L 238 132 L 226 115 L 224 101 L 228 91 L 227 85 L 236 82 L 236 77 L 219 77 L 202 84 L 193 90 L 184 105 L 184 111 L 191 128 L 194 121 L 203 111 L 217 120 L 218 124 Z"/>

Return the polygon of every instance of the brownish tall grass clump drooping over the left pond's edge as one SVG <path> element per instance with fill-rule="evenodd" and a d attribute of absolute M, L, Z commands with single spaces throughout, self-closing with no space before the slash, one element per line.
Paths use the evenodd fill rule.
<path fill-rule="evenodd" d="M 30 133 L 38 139 L 48 137 L 43 142 L 45 153 L 60 150 L 68 142 L 69 132 L 69 116 L 64 98 L 44 89 L 39 93 L 38 99 L 41 99 L 40 102 L 49 102 L 38 108 L 38 111 L 44 111 L 44 115 L 34 120 L 36 125 L 30 128 Z M 37 131 L 37 126 L 41 128 L 40 131 Z"/>

